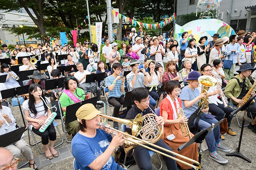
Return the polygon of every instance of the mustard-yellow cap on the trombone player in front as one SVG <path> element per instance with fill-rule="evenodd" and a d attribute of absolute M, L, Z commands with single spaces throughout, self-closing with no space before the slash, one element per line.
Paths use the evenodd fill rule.
<path fill-rule="evenodd" d="M 82 119 L 90 120 L 100 113 L 101 112 L 98 111 L 93 104 L 87 103 L 79 107 L 79 109 L 76 111 L 75 116 L 77 117 L 78 121 Z"/>

